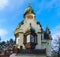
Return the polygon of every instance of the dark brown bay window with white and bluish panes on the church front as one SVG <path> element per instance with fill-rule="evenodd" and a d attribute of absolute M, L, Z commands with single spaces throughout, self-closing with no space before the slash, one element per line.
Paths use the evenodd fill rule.
<path fill-rule="evenodd" d="M 37 45 L 37 35 L 35 33 L 25 33 L 24 35 L 24 45 L 26 49 L 35 49 Z"/>

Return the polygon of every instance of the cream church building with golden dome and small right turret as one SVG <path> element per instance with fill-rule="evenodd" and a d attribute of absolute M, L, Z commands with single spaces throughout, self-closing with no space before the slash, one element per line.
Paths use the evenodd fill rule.
<path fill-rule="evenodd" d="M 52 38 L 48 26 L 44 31 L 30 5 L 25 9 L 23 17 L 24 20 L 18 24 L 14 32 L 18 53 L 24 54 L 25 57 L 44 57 L 44 55 L 51 57 Z"/>

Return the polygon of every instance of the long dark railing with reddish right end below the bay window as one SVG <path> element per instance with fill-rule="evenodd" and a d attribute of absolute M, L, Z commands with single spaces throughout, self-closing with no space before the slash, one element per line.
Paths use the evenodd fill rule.
<path fill-rule="evenodd" d="M 46 49 L 35 49 L 35 50 L 19 49 L 17 53 L 20 53 L 20 54 L 46 54 Z"/>

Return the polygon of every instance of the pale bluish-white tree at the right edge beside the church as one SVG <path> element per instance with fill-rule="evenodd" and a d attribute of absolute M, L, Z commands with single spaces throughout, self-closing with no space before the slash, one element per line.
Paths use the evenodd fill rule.
<path fill-rule="evenodd" d="M 60 36 L 57 35 L 57 38 L 53 40 L 53 53 L 57 53 L 58 57 L 60 57 Z"/>

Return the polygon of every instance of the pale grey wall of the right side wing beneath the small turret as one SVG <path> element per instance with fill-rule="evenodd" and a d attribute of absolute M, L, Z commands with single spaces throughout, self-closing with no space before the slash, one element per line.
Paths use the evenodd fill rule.
<path fill-rule="evenodd" d="M 41 48 L 46 48 L 47 56 L 51 56 L 51 40 L 42 40 Z"/>

